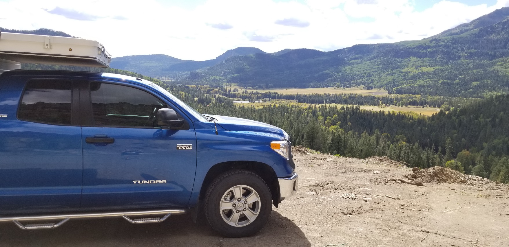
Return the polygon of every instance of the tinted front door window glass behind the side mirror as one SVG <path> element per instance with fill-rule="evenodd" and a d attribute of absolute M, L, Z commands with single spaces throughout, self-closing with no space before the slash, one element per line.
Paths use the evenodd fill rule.
<path fill-rule="evenodd" d="M 94 126 L 153 127 L 157 110 L 166 104 L 134 87 L 91 82 Z"/>

